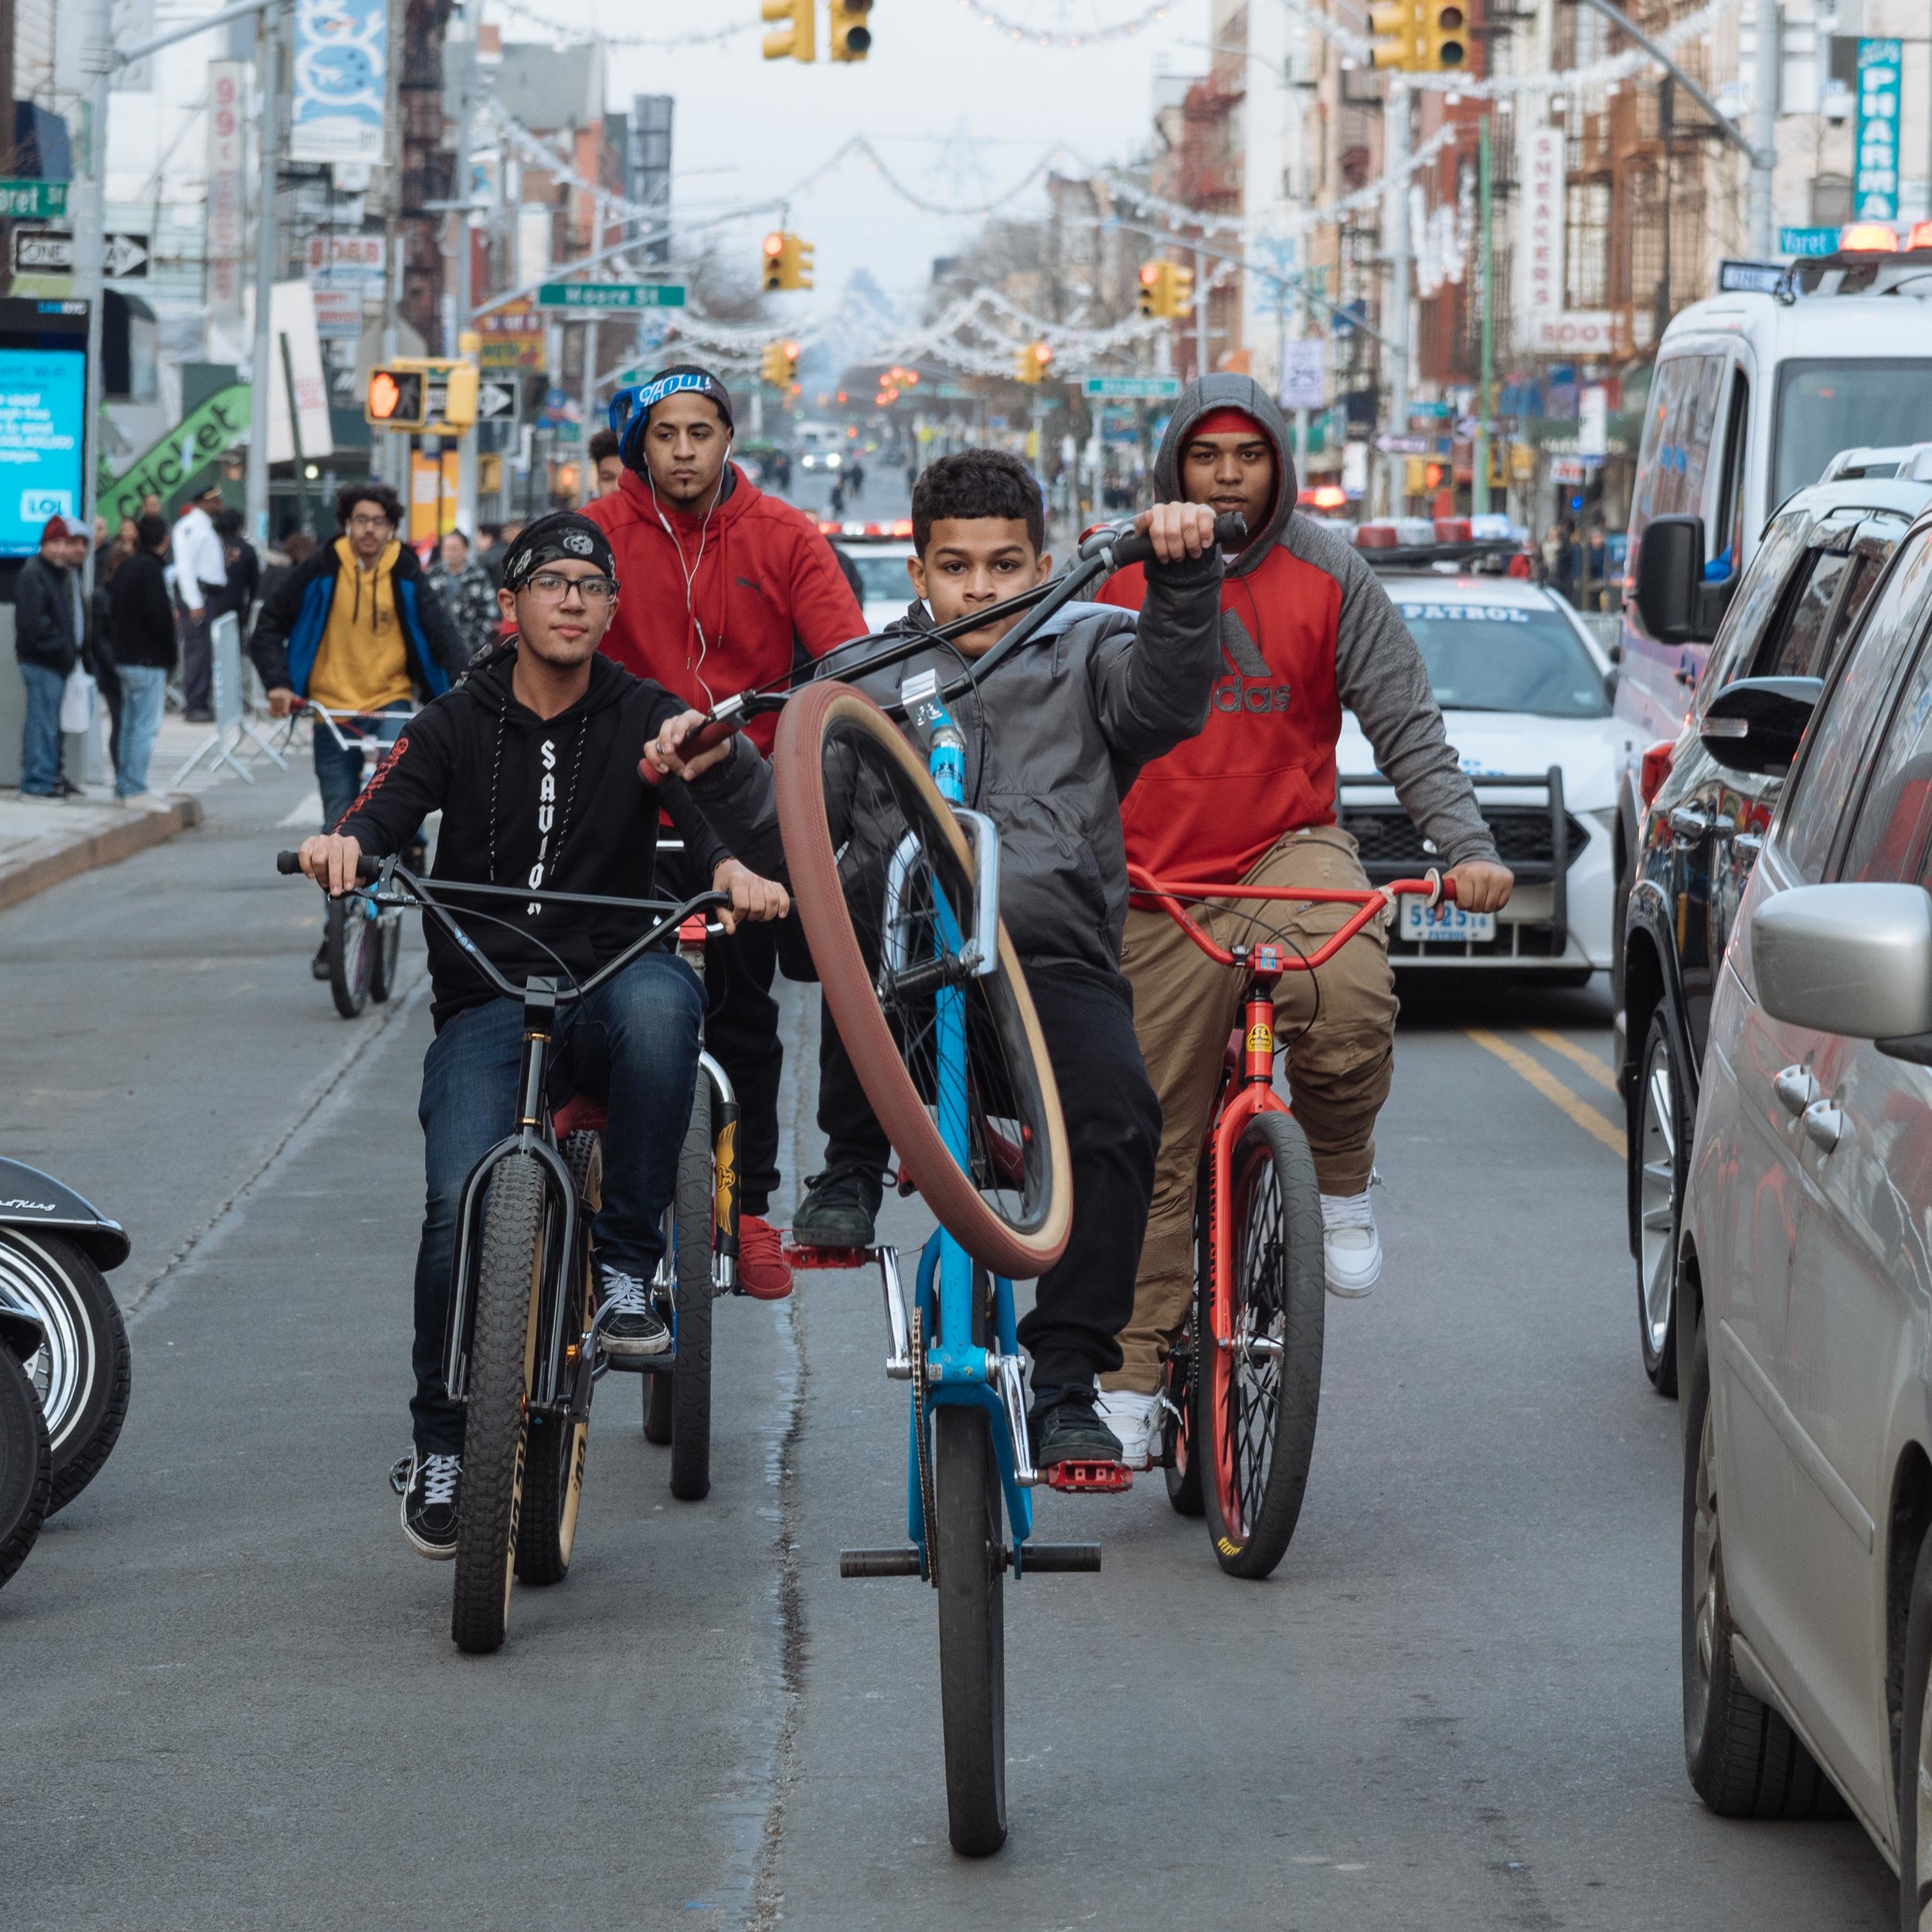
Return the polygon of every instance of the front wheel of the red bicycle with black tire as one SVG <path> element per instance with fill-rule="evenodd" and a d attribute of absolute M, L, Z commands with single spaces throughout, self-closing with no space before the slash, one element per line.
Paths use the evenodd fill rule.
<path fill-rule="evenodd" d="M 1321 1403 L 1321 1196 L 1308 1138 L 1260 1113 L 1235 1142 L 1227 1215 L 1233 1279 L 1194 1300 L 1194 1443 L 1215 1557 L 1231 1577 L 1283 1559 L 1308 1490 Z"/>

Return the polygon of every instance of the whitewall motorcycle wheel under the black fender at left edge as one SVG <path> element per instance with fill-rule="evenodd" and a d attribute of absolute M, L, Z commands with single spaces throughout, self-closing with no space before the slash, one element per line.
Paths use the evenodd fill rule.
<path fill-rule="evenodd" d="M 100 1474 L 120 1441 L 133 1385 L 128 1323 L 100 1269 L 60 1235 L 0 1229 L 0 1285 L 46 1329 L 27 1379 L 46 1416 L 52 1517 Z"/>

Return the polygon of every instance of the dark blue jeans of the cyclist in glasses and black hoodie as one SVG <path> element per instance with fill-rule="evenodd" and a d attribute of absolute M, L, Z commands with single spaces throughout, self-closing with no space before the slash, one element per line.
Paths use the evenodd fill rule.
<path fill-rule="evenodd" d="M 609 1107 L 597 1258 L 639 1281 L 651 1279 L 665 1252 L 663 1219 L 692 1119 L 703 1009 L 697 976 L 668 952 L 647 952 L 568 1009 L 551 1059 L 553 1107 L 578 1092 Z M 493 999 L 448 1020 L 423 1059 L 417 1115 L 429 1186 L 415 1256 L 410 1416 L 425 1455 L 458 1455 L 464 1445 L 464 1408 L 442 1381 L 456 1204 L 469 1169 L 516 1130 L 522 1057 L 524 1009 Z"/>

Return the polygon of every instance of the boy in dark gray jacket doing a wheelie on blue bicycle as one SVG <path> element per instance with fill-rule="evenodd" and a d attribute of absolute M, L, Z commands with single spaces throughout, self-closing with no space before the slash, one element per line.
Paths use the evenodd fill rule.
<path fill-rule="evenodd" d="M 1138 622 L 1070 603 L 981 684 L 949 701 L 966 740 L 964 802 L 999 831 L 1001 918 L 1024 964 L 1066 1121 L 1072 1229 L 1018 1329 L 1034 1358 L 1039 1468 L 1121 1455 L 1095 1416 L 1094 1378 L 1121 1362 L 1115 1335 L 1132 1300 L 1161 1124 L 1119 966 L 1128 893 L 1121 798 L 1142 765 L 1200 730 L 1219 663 L 1213 512 L 1159 504 L 1142 514 L 1140 527 L 1155 562 Z M 962 450 L 925 469 L 912 495 L 912 533 L 916 601 L 887 636 L 916 636 L 991 609 L 1051 570 L 1039 485 L 997 450 Z M 931 651 L 860 678 L 860 690 L 895 703 L 910 680 L 937 672 L 945 684 L 1014 622 L 1009 616 L 951 643 L 935 639 Z M 835 651 L 819 674 L 837 678 L 842 663 L 864 655 L 862 645 Z M 667 726 L 653 761 L 696 777 L 721 759 L 713 777 L 697 781 L 696 796 L 740 850 L 769 867 L 777 862 L 769 825 L 763 835 L 738 827 L 711 796 L 721 781 L 736 790 L 734 773 L 753 752 L 719 748 L 688 767 L 676 759 L 676 744 L 699 723 L 690 713 Z M 891 1148 L 829 1014 L 819 1126 L 825 1173 L 798 1209 L 794 1238 L 867 1246 Z"/>

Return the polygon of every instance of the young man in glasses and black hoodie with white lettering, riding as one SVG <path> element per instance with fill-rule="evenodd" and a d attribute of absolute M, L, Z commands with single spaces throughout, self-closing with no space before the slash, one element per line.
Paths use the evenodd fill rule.
<path fill-rule="evenodd" d="M 665 806 L 686 854 L 715 891 L 730 895 L 719 914 L 726 929 L 782 918 L 782 887 L 746 871 L 680 786 L 659 792 L 638 775 L 639 746 L 682 703 L 597 655 L 618 593 L 605 533 L 572 512 L 527 526 L 504 558 L 502 585 L 497 601 L 518 636 L 410 721 L 336 831 L 301 846 L 301 869 L 344 893 L 363 854 L 400 852 L 440 810 L 435 879 L 529 889 L 502 916 L 466 914 L 498 972 L 512 983 L 531 974 L 587 978 L 639 937 L 636 914 L 558 902 L 545 891 L 649 898 Z M 435 923 L 429 980 L 437 1037 L 419 1107 L 427 1206 L 415 1262 L 415 1451 L 402 1526 L 425 1557 L 452 1557 L 464 1449 L 464 1408 L 444 1387 L 456 1213 L 469 1171 L 514 1128 L 524 1007 L 497 995 Z M 616 1302 L 603 1327 L 611 1354 L 661 1354 L 670 1345 L 647 1283 L 665 1246 L 701 1018 L 692 970 L 670 952 L 645 952 L 572 1007 L 558 1032 L 551 1103 L 585 1090 L 609 1107 L 593 1231 L 599 1293 Z"/>

